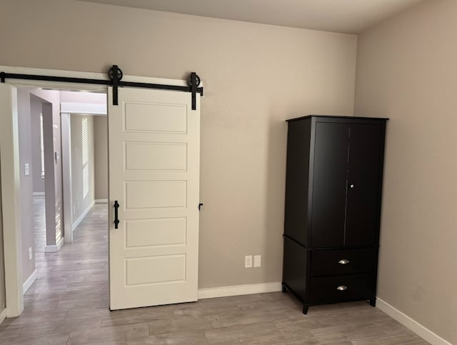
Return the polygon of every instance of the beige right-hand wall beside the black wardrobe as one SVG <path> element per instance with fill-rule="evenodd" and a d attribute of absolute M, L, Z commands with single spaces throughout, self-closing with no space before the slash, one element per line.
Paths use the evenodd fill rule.
<path fill-rule="evenodd" d="M 457 1 L 360 36 L 356 115 L 387 116 L 378 297 L 457 344 Z"/>

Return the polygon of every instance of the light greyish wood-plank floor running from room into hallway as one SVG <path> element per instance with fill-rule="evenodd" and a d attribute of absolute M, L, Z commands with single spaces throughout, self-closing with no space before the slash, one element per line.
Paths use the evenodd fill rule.
<path fill-rule="evenodd" d="M 74 243 L 36 253 L 39 279 L 24 313 L 0 326 L 0 344 L 427 344 L 366 302 L 313 306 L 275 292 L 109 311 L 106 204 Z"/>

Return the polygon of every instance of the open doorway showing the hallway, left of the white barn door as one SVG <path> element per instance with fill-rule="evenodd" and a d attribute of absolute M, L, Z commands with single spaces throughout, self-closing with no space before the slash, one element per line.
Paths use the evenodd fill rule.
<path fill-rule="evenodd" d="M 106 93 L 18 87 L 17 108 L 24 309 L 108 309 Z"/>

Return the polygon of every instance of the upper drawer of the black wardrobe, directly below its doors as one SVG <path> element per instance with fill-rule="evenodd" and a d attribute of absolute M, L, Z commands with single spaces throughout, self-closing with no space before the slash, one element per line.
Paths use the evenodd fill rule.
<path fill-rule="evenodd" d="M 311 276 L 373 271 L 376 249 L 336 249 L 311 252 Z"/>

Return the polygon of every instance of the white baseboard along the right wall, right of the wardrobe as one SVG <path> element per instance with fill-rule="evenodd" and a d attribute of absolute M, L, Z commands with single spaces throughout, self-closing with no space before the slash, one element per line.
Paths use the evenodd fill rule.
<path fill-rule="evenodd" d="M 433 345 L 451 345 L 450 342 L 438 336 L 438 334 L 433 333 L 430 329 L 419 324 L 417 321 L 414 321 L 406 314 L 403 314 L 401 311 L 396 309 L 395 307 L 388 304 L 386 301 L 382 299 L 376 298 L 376 307 L 386 313 L 388 316 L 391 316 L 392 319 L 400 322 L 403 326 L 407 329 L 410 329 L 422 339 L 428 341 L 430 344 Z"/>

